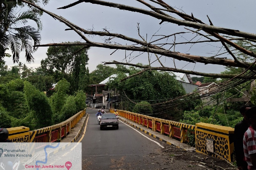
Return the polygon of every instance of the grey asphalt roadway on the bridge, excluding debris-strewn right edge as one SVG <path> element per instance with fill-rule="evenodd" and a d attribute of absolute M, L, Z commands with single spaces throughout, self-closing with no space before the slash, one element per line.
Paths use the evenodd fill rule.
<path fill-rule="evenodd" d="M 86 109 L 89 120 L 86 133 L 82 139 L 82 169 L 159 169 L 153 163 L 156 155 L 162 153 L 165 143 L 150 137 L 147 138 L 119 121 L 119 129 L 100 130 L 97 123 L 97 109 Z M 148 139 L 150 138 L 150 139 Z M 158 161 L 159 158 L 157 159 Z"/>

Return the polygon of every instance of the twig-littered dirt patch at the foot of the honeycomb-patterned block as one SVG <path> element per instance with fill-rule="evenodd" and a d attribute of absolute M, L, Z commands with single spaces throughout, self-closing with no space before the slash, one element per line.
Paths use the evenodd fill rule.
<path fill-rule="evenodd" d="M 228 170 L 237 169 L 232 164 L 219 158 L 197 153 L 195 151 L 184 151 L 176 146 L 166 146 L 160 149 L 157 154 L 146 155 L 152 161 L 151 164 L 158 164 L 160 169 L 184 169 L 184 170 Z M 161 160 L 161 161 L 159 161 Z M 169 165 L 169 166 L 167 166 Z M 162 167 L 161 167 L 162 166 Z"/>

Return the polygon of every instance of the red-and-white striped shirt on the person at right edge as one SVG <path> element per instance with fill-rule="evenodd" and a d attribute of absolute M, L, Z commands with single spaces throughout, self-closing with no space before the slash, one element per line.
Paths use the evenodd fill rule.
<path fill-rule="evenodd" d="M 244 133 L 244 156 L 245 161 L 248 164 L 248 170 L 256 170 L 256 166 L 253 166 L 250 156 L 256 153 L 256 131 L 250 126 Z"/>

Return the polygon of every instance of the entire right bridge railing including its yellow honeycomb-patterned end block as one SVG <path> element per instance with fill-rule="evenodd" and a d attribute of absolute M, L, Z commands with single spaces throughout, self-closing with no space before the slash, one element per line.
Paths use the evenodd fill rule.
<path fill-rule="evenodd" d="M 114 109 L 110 109 L 114 113 Z M 232 162 L 234 150 L 234 129 L 231 127 L 197 123 L 196 125 L 159 119 L 128 111 L 118 110 L 119 116 L 150 128 L 171 138 L 187 141 L 187 130 L 195 134 L 196 152 L 212 155 Z"/>

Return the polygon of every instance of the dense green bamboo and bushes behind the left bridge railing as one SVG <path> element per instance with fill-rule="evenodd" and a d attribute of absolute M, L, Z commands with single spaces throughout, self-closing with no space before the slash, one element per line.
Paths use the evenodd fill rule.
<path fill-rule="evenodd" d="M 43 128 L 64 121 L 83 110 L 86 107 L 85 90 L 88 85 L 88 81 L 85 82 L 83 79 L 89 77 L 82 68 L 86 70 L 87 61 L 84 63 L 80 61 L 77 68 L 80 74 L 76 77 L 79 80 L 71 82 L 60 77 L 56 79 L 58 76 L 55 71 L 50 72 L 45 69 L 45 61 L 41 62 L 41 67 L 35 69 L 28 68 L 22 63 L 8 69 L 2 62 L 0 64 L 0 127 L 27 126 L 31 130 Z M 73 70 L 66 76 L 73 78 L 72 74 L 75 73 L 77 72 Z M 49 89 L 53 88 L 54 83 L 56 83 L 55 90 L 51 94 Z M 74 88 L 70 87 L 72 83 Z M 70 92 L 71 90 L 73 91 Z"/>

